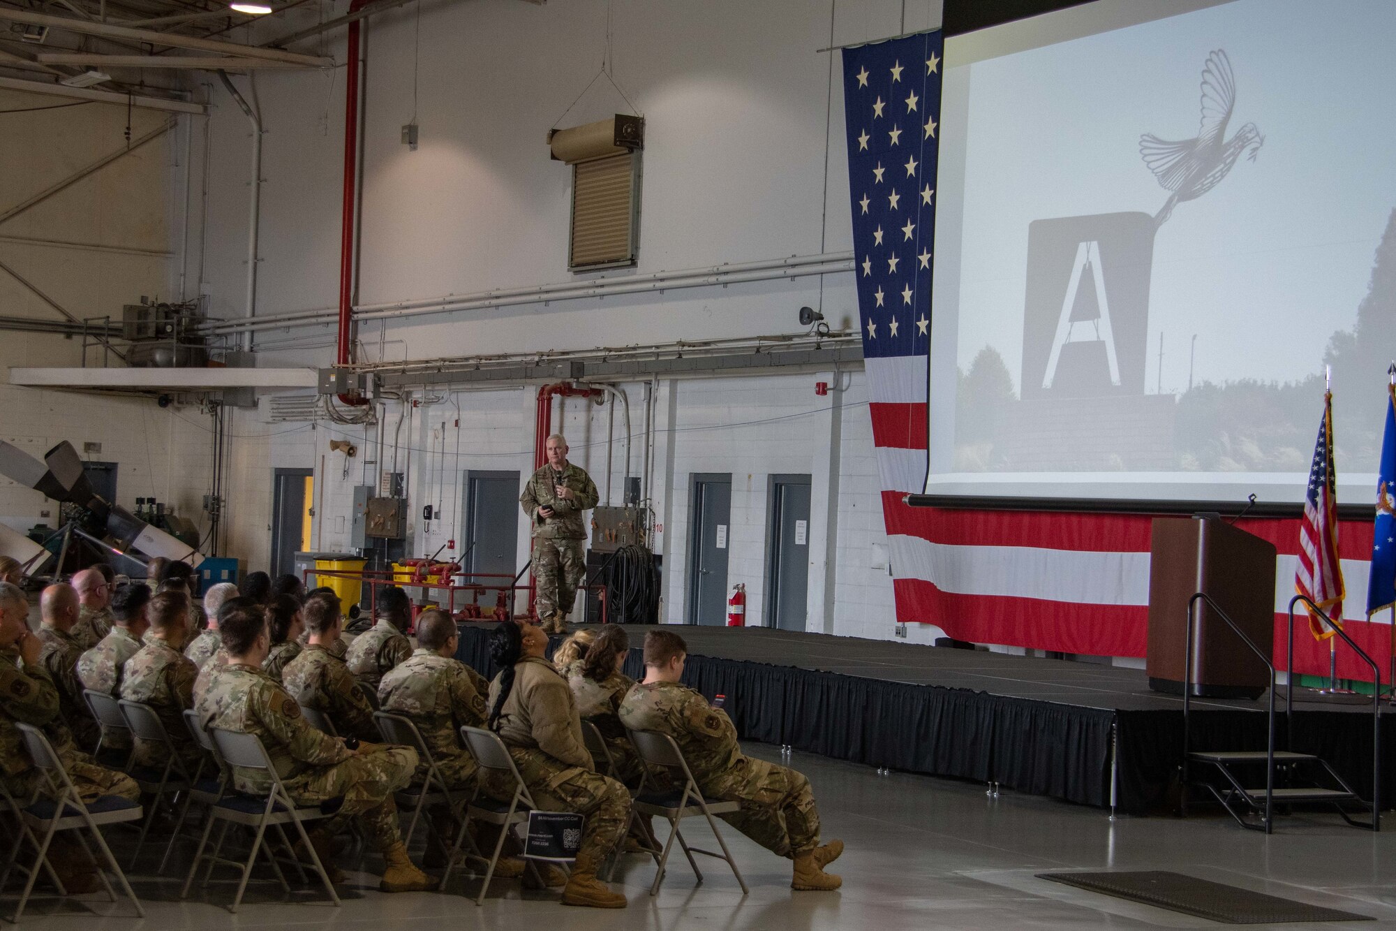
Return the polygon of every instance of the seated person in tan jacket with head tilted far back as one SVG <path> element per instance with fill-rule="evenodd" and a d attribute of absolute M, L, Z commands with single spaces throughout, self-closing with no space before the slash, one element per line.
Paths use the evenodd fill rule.
<path fill-rule="evenodd" d="M 625 896 L 596 878 L 630 821 L 630 793 L 602 776 L 582 744 L 582 720 L 567 681 L 544 658 L 542 628 L 501 623 L 490 637 L 500 674 L 490 684 L 489 727 L 500 735 L 537 808 L 579 812 L 586 822 L 563 903 L 624 909 Z M 514 795 L 510 773 L 483 770 L 480 787 L 501 801 Z"/>

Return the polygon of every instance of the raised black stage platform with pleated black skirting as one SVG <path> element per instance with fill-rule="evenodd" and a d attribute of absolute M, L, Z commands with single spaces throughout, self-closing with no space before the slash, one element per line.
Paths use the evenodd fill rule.
<path fill-rule="evenodd" d="M 458 656 L 493 678 L 493 623 L 462 626 Z M 645 626 L 628 626 L 639 647 Z M 949 776 L 1125 812 L 1163 811 L 1182 759 L 1182 699 L 1143 670 L 764 628 L 666 628 L 688 642 L 684 681 L 727 696 L 745 739 Z M 561 637 L 553 637 L 553 646 Z M 642 675 L 632 649 L 627 672 Z M 1280 749 L 1318 753 L 1365 798 L 1371 699 L 1301 689 Z M 1195 749 L 1265 749 L 1265 696 L 1192 702 Z M 1286 732 L 1290 734 L 1289 745 Z M 1382 714 L 1382 798 L 1396 801 L 1396 714 Z"/>

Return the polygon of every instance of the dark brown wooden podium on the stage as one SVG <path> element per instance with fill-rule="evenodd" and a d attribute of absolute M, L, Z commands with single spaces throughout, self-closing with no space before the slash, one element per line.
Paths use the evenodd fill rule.
<path fill-rule="evenodd" d="M 1275 547 L 1220 517 L 1156 517 L 1149 568 L 1149 688 L 1182 695 L 1188 600 L 1198 591 L 1273 661 Z M 1192 632 L 1192 695 L 1259 698 L 1265 664 L 1217 612 L 1198 602 Z"/>

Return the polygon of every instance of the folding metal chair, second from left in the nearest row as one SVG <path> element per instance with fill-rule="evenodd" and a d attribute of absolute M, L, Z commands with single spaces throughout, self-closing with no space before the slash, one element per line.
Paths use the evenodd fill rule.
<path fill-rule="evenodd" d="M 243 900 L 243 892 L 247 889 L 247 879 L 251 876 L 253 864 L 257 861 L 257 853 L 262 849 L 262 840 L 267 833 L 267 828 L 278 828 L 285 823 L 292 823 L 296 826 L 296 832 L 300 835 L 300 842 L 304 846 L 307 854 L 310 856 L 310 863 L 320 875 L 320 881 L 325 886 L 325 892 L 329 893 L 329 899 L 338 906 L 339 895 L 335 892 L 334 883 L 329 882 L 329 875 L 325 872 L 324 865 L 320 863 L 320 856 L 315 853 L 314 846 L 310 843 L 310 836 L 306 833 L 304 822 L 320 821 L 328 818 L 320 805 L 297 805 L 290 794 L 286 791 L 285 783 L 281 781 L 281 776 L 276 773 L 276 766 L 271 762 L 267 755 L 267 748 L 262 746 L 261 738 L 255 734 L 239 734 L 237 731 L 228 731 L 219 727 L 209 728 L 208 737 L 211 738 L 215 753 L 219 760 L 228 767 L 242 767 L 242 769 L 255 769 L 267 773 L 271 780 L 271 790 L 265 797 L 236 793 L 226 794 L 218 802 L 209 808 L 208 823 L 204 825 L 204 835 L 198 840 L 198 850 L 194 854 L 194 863 L 190 864 L 188 878 L 184 881 L 184 889 L 180 892 L 180 897 L 188 896 L 188 888 L 194 882 L 194 874 L 198 872 L 198 864 L 208 858 L 209 871 L 215 864 L 225 864 L 230 867 L 237 867 L 242 869 L 242 878 L 237 882 L 237 893 L 233 896 L 233 904 L 229 911 L 237 913 L 237 906 Z M 212 854 L 205 854 L 204 849 L 208 846 L 208 835 L 214 829 L 214 822 L 225 822 L 225 830 L 228 823 L 246 825 L 254 828 L 251 851 L 247 854 L 246 863 L 239 863 L 236 860 L 225 860 L 219 857 L 219 850 L 222 847 L 222 837 L 219 837 L 219 844 Z M 268 850 L 268 854 L 271 851 Z M 272 861 L 275 865 L 275 860 Z M 285 876 L 281 876 L 281 869 L 276 869 L 281 878 L 282 888 L 286 886 Z M 207 882 L 207 876 L 205 876 Z"/>

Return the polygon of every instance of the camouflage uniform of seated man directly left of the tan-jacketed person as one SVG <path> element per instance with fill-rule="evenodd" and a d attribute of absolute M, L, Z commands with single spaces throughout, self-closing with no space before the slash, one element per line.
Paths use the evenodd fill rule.
<path fill-rule="evenodd" d="M 447 786 L 473 790 L 479 766 L 461 746 L 461 727 L 484 727 L 489 689 L 484 677 L 465 663 L 417 649 L 383 677 L 378 700 L 384 712 L 402 714 L 417 726 Z M 417 779 L 426 774 L 422 760 Z"/>

